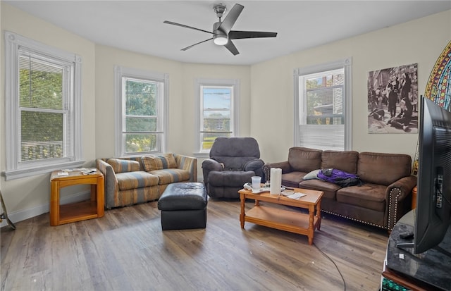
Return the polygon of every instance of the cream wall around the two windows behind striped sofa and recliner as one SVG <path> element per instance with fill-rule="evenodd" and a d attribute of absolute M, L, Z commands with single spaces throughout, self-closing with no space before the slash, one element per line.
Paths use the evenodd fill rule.
<path fill-rule="evenodd" d="M 196 131 L 195 80 L 240 80 L 240 133 L 249 135 L 249 66 L 215 66 L 180 63 L 135 54 L 112 47 L 96 46 L 96 151 L 97 157 L 114 156 L 114 71 L 115 65 L 169 75 L 167 151 L 192 156 Z M 201 173 L 199 160 L 199 173 Z"/>

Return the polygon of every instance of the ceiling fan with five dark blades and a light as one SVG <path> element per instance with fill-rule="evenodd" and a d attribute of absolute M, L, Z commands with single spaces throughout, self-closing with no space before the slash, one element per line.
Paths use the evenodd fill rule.
<path fill-rule="evenodd" d="M 199 30 L 206 33 L 210 33 L 213 37 L 203 40 L 202 42 L 197 42 L 196 44 L 192 44 L 189 47 L 185 47 L 182 51 L 186 51 L 187 49 L 191 49 L 197 44 L 202 44 L 203 42 L 208 42 L 213 39 L 213 42 L 218 45 L 223 45 L 228 49 L 234 56 L 240 54 L 238 49 L 233 44 L 232 39 L 245 39 L 245 38 L 257 38 L 257 37 L 276 37 L 277 32 L 259 32 L 259 31 L 240 31 L 240 30 L 231 30 L 238 16 L 240 16 L 241 11 L 245 8 L 240 4 L 235 4 L 232 9 L 227 13 L 226 18 L 222 20 L 223 14 L 226 12 L 226 6 L 223 4 L 217 4 L 214 6 L 213 10 L 218 17 L 218 22 L 213 24 L 212 32 L 207 30 L 201 30 L 196 27 L 183 25 L 180 23 L 173 23 L 172 21 L 164 21 L 163 23 L 178 25 L 181 27 L 190 28 L 192 30 Z"/>

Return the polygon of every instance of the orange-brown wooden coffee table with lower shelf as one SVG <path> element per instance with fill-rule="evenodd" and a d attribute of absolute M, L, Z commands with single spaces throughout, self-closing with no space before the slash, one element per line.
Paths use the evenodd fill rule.
<path fill-rule="evenodd" d="M 241 200 L 241 228 L 245 228 L 245 221 L 248 221 L 268 228 L 307 235 L 309 244 L 313 244 L 314 231 L 321 227 L 321 197 L 323 197 L 323 192 L 299 188 L 295 188 L 294 192 L 302 192 L 307 195 L 299 199 L 290 199 L 283 195 L 273 195 L 268 192 L 255 194 L 252 193 L 252 190 L 242 189 L 238 191 Z M 245 211 L 246 199 L 255 199 L 255 206 L 249 211 Z M 309 213 L 264 206 L 260 205 L 259 202 L 261 201 L 308 209 Z"/>

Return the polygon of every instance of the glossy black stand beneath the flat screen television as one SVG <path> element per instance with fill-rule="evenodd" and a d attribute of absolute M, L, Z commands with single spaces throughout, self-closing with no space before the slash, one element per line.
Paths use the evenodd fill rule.
<path fill-rule="evenodd" d="M 412 290 L 451 290 L 451 226 L 437 247 L 414 254 L 412 239 L 400 238 L 400 233 L 413 231 L 414 211 L 403 216 L 390 233 L 383 276 L 402 278 L 400 282 Z"/>

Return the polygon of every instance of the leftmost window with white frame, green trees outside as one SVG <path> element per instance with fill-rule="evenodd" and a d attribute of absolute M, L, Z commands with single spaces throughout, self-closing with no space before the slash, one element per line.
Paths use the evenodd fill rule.
<path fill-rule="evenodd" d="M 12 32 L 6 41 L 6 179 L 81 166 L 80 63 Z"/>

